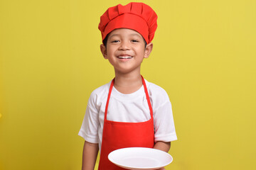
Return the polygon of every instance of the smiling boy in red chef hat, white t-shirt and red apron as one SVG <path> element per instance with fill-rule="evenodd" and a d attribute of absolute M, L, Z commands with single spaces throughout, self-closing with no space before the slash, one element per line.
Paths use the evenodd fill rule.
<path fill-rule="evenodd" d="M 141 76 L 156 31 L 156 13 L 143 3 L 108 8 L 101 16 L 100 50 L 114 67 L 114 79 L 92 92 L 79 135 L 85 139 L 82 170 L 122 169 L 107 155 L 124 147 L 151 147 L 168 152 L 176 140 L 171 103 L 164 89 Z"/>

